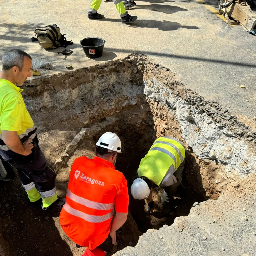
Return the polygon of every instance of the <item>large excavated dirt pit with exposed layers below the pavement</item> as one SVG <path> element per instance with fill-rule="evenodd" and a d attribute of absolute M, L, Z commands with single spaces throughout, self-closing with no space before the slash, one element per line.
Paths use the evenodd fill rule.
<path fill-rule="evenodd" d="M 144 55 L 30 80 L 24 87 L 39 145 L 57 172 L 59 197 L 66 196 L 74 160 L 92 158 L 104 132 L 117 133 L 122 141 L 116 169 L 128 184 L 156 138 L 173 136 L 185 144 L 188 154 L 175 210 L 163 216 L 161 188 L 154 190 L 152 214 L 146 213 L 143 200 L 130 195 L 128 221 L 117 232 L 118 250 L 135 246 L 148 229 L 187 216 L 193 203 L 217 199 L 232 189 L 227 184 L 237 175 L 254 171 L 255 156 L 247 152 L 255 148 L 255 132 L 217 102 L 187 90 L 179 76 Z M 236 145 L 244 149 L 242 155 Z M 241 160 L 245 157 L 247 164 Z M 0 186 L 3 237 L 10 245 L 6 255 L 82 255 L 84 248 L 76 248 L 63 233 L 58 214 L 28 208 L 17 175 Z"/>

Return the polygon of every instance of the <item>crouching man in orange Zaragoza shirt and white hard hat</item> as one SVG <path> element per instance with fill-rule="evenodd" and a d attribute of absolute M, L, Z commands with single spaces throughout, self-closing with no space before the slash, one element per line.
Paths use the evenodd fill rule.
<path fill-rule="evenodd" d="M 79 157 L 71 167 L 60 225 L 77 247 L 88 247 L 83 256 L 109 252 L 116 243 L 116 230 L 127 219 L 127 181 L 114 167 L 117 153 L 121 153 L 120 139 L 106 132 L 96 143 L 96 156 Z"/>

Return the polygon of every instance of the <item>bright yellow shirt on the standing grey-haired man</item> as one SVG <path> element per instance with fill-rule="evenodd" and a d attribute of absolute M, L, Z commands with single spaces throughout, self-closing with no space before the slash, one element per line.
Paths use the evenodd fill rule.
<path fill-rule="evenodd" d="M 17 131 L 20 136 L 35 130 L 34 122 L 23 101 L 22 91 L 23 89 L 10 81 L 0 79 L 0 134 L 2 130 Z"/>

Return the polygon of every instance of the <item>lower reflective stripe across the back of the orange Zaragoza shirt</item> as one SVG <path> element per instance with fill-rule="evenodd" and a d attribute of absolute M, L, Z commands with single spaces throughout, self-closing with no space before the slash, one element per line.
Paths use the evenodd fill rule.
<path fill-rule="evenodd" d="M 74 215 L 76 217 L 84 219 L 85 221 L 93 222 L 93 223 L 107 221 L 108 219 L 112 218 L 114 215 L 114 209 L 110 213 L 101 215 L 101 216 L 89 215 L 87 213 L 84 213 L 72 208 L 70 205 L 68 205 L 67 202 L 64 204 L 63 209 L 71 215 Z"/>

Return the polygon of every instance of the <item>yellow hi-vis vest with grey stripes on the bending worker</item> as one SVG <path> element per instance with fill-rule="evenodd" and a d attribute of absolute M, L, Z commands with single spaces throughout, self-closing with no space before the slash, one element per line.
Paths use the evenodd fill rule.
<path fill-rule="evenodd" d="M 184 144 L 173 137 L 158 138 L 141 159 L 138 169 L 139 177 L 147 177 L 160 186 L 166 173 L 174 173 L 185 158 Z"/>

